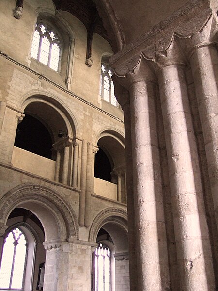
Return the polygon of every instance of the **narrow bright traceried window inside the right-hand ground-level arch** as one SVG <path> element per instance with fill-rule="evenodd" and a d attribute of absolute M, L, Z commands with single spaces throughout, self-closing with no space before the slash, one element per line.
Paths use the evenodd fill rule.
<path fill-rule="evenodd" d="M 110 249 L 102 242 L 95 250 L 94 291 L 110 291 Z"/>

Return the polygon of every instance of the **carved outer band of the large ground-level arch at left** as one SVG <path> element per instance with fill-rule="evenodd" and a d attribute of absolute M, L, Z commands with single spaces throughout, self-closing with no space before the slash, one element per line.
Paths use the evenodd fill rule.
<path fill-rule="evenodd" d="M 79 228 L 74 210 L 53 190 L 36 184 L 21 184 L 6 193 L 0 200 L 0 219 L 6 221 L 7 215 L 18 202 L 27 201 L 27 199 L 37 201 L 40 197 L 46 198 L 47 201 L 51 202 L 51 205 L 60 210 L 66 224 L 68 237 L 78 238 Z"/>

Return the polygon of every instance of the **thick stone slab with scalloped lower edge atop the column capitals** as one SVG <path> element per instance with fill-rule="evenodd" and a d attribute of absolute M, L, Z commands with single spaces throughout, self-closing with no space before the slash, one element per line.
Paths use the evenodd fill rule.
<path fill-rule="evenodd" d="M 154 60 L 156 54 L 170 46 L 174 36 L 187 38 L 200 31 L 212 15 L 207 0 L 191 0 L 138 39 L 125 46 L 110 59 L 117 76 L 125 76 L 134 70 L 143 56 Z"/>

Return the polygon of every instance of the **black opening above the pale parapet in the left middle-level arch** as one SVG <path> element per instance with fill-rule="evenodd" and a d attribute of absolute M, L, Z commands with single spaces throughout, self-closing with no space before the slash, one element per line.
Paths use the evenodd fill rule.
<path fill-rule="evenodd" d="M 47 128 L 37 118 L 25 114 L 17 125 L 15 146 L 51 159 L 52 139 Z"/>

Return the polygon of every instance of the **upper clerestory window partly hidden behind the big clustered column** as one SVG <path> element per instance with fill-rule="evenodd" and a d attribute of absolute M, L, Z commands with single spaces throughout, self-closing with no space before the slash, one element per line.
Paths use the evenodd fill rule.
<path fill-rule="evenodd" d="M 114 95 L 114 86 L 112 81 L 113 70 L 109 65 L 101 64 L 101 98 L 118 107 L 117 99 Z"/>

